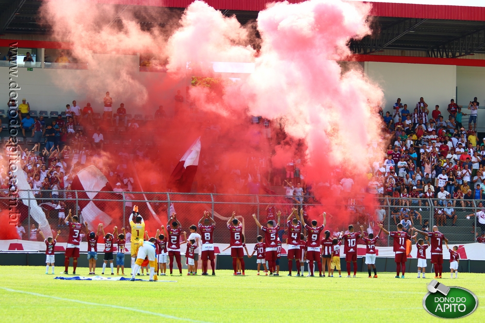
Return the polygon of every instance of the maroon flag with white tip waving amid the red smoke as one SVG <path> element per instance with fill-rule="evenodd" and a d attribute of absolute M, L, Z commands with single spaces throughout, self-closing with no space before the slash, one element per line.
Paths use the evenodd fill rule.
<path fill-rule="evenodd" d="M 200 137 L 190 146 L 189 150 L 178 162 L 168 180 L 167 188 L 176 192 L 190 193 L 195 172 L 199 164 Z"/>

